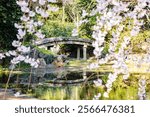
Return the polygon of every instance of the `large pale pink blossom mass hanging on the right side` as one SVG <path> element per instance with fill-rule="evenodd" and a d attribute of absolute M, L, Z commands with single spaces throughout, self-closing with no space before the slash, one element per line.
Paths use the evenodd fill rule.
<path fill-rule="evenodd" d="M 106 83 L 106 91 L 104 97 L 109 97 L 109 92 L 112 89 L 112 84 L 119 74 L 123 75 L 126 80 L 129 77 L 128 66 L 126 58 L 128 52 L 127 46 L 133 36 L 140 32 L 140 28 L 144 25 L 143 17 L 147 15 L 147 7 L 150 7 L 149 0 L 138 0 L 133 9 L 130 9 L 130 3 L 121 2 L 117 0 L 96 0 L 97 7 L 91 13 L 83 12 L 83 17 L 96 15 L 96 25 L 93 27 L 92 37 L 95 39 L 93 42 L 94 55 L 97 58 L 97 63 L 89 65 L 91 69 L 98 68 L 99 65 L 113 61 L 114 72 L 108 75 Z M 111 6 L 111 7 L 110 7 Z M 99 14 L 99 15 L 97 15 Z M 128 22 L 128 23 L 124 23 Z M 121 36 L 126 31 L 125 28 L 130 30 L 130 34 Z M 107 35 L 111 35 L 109 42 L 108 54 L 103 58 L 102 52 L 106 44 Z M 122 39 L 121 42 L 119 40 Z M 118 45 L 119 48 L 118 48 Z M 149 56 L 149 54 L 147 54 Z M 149 58 L 147 56 L 147 58 Z M 148 60 L 148 59 L 145 59 Z M 148 60 L 148 62 L 150 62 Z M 94 67 L 95 66 L 95 67 Z M 96 86 L 97 81 L 94 81 Z"/>

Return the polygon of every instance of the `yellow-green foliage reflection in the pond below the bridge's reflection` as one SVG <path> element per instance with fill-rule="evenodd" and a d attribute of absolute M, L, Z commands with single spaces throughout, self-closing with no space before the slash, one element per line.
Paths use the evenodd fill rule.
<path fill-rule="evenodd" d="M 66 86 L 38 86 L 34 95 L 40 99 L 51 100 L 80 100 L 88 99 L 97 93 L 98 90 L 91 84 L 88 85 L 66 85 Z"/>

